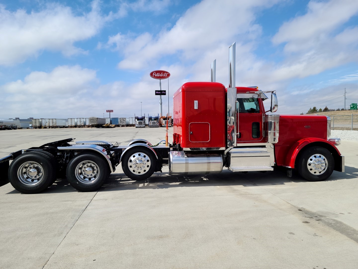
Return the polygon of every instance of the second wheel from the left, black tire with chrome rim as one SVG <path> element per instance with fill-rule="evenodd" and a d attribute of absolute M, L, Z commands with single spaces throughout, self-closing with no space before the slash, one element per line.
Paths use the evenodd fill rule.
<path fill-rule="evenodd" d="M 89 167 L 92 174 L 82 174 Z M 87 169 L 87 168 L 86 168 Z M 92 170 L 91 170 L 92 169 Z M 79 171 L 77 171 L 79 170 Z M 86 173 L 88 172 L 86 171 Z M 67 166 L 67 180 L 71 186 L 81 192 L 93 192 L 102 187 L 110 174 L 108 163 L 97 154 L 84 153 L 74 157 Z"/>

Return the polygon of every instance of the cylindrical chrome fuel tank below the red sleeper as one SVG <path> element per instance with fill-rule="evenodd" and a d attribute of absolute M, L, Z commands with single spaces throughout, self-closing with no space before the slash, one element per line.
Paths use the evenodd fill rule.
<path fill-rule="evenodd" d="M 223 169 L 223 157 L 208 152 L 169 152 L 169 175 L 218 174 Z"/>

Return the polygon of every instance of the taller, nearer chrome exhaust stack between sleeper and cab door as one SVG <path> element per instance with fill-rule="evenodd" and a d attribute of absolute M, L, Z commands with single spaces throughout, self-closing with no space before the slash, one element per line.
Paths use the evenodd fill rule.
<path fill-rule="evenodd" d="M 227 88 L 227 147 L 236 146 L 236 88 L 235 52 L 236 42 L 229 47 L 229 86 Z"/>

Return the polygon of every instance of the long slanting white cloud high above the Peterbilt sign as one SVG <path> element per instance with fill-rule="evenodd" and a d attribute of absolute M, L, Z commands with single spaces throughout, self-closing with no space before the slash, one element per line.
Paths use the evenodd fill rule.
<path fill-rule="evenodd" d="M 119 33 L 109 38 L 107 46 L 115 44 L 124 55 L 118 64 L 120 69 L 143 69 L 149 62 L 175 53 L 181 54 L 184 60 L 197 60 L 202 51 L 230 43 L 240 35 L 249 38 L 245 42 L 255 39 L 261 34 L 261 27 L 254 23 L 255 11 L 279 1 L 203 0 L 189 8 L 169 30 L 164 28 L 156 36 Z"/>

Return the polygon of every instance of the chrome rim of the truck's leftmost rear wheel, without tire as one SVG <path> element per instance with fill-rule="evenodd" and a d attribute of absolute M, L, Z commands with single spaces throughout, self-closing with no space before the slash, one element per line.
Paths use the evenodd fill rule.
<path fill-rule="evenodd" d="M 24 162 L 19 166 L 18 179 L 29 186 L 37 185 L 44 177 L 42 166 L 38 162 Z"/>

